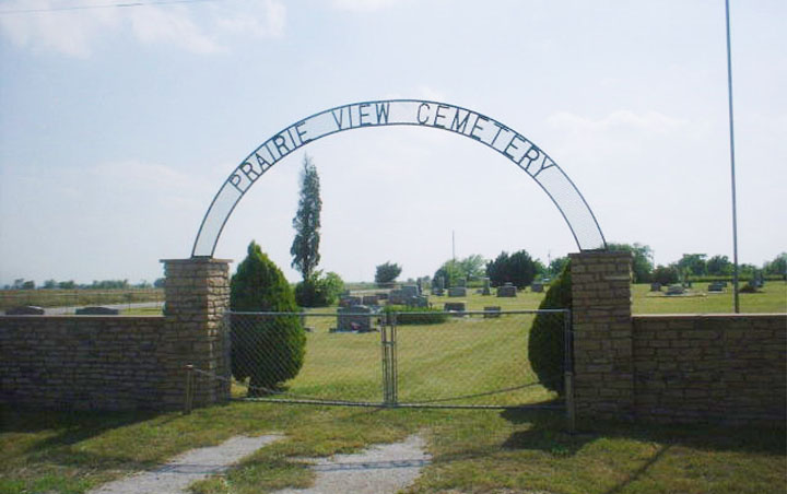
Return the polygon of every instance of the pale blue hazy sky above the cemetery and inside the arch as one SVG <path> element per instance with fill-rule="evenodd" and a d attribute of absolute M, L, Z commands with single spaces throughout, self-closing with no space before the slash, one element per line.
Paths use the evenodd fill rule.
<path fill-rule="evenodd" d="M 163 275 L 227 176 L 305 117 L 415 98 L 470 108 L 548 153 L 607 242 L 732 259 L 721 0 L 0 0 L 0 285 Z M 125 3 L 125 2 L 119 2 Z M 787 250 L 787 2 L 731 0 L 740 262 Z M 539 185 L 488 146 L 379 127 L 261 176 L 214 256 L 255 239 L 290 281 L 308 153 L 321 262 L 371 281 L 451 258 L 578 247 Z M 454 239 L 454 242 L 453 242 Z"/>

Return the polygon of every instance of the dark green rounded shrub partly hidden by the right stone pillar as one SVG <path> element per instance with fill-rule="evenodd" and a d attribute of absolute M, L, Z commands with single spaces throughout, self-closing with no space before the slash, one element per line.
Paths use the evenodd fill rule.
<path fill-rule="evenodd" d="M 572 307 L 571 262 L 552 282 L 539 309 Z M 567 317 L 567 316 L 563 316 Z M 565 334 L 563 324 L 555 314 L 537 314 L 528 338 L 530 365 L 539 381 L 548 389 L 563 395 L 565 372 Z"/>

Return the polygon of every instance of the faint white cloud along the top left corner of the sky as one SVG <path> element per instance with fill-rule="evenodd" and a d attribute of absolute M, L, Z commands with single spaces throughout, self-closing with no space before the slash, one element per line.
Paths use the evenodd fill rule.
<path fill-rule="evenodd" d="M 34 50 L 56 51 L 72 57 L 89 57 L 96 46 L 109 37 L 129 36 L 145 45 L 168 45 L 196 54 L 224 49 L 226 35 L 280 37 L 286 24 L 286 8 L 278 0 L 266 0 L 233 9 L 210 7 L 144 5 L 102 8 L 106 2 L 85 0 L 82 5 L 94 9 L 58 11 L 51 0 L 15 0 L 4 11 L 42 10 L 0 17 L 0 34 L 15 46 Z M 202 10 L 200 10 L 202 9 Z M 50 11 L 47 11 L 50 10 Z"/>

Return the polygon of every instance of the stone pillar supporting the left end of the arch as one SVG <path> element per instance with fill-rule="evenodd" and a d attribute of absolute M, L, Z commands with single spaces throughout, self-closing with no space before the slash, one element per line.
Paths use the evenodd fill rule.
<path fill-rule="evenodd" d="M 166 334 L 158 349 L 164 408 L 184 405 L 186 365 L 230 377 L 230 262 L 212 258 L 164 259 Z M 193 405 L 230 399 L 228 380 L 195 375 Z"/>

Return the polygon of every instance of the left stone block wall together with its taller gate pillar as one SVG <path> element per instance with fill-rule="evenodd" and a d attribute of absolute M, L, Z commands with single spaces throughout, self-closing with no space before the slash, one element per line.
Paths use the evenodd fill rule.
<path fill-rule="evenodd" d="M 163 262 L 163 317 L 0 316 L 0 402 L 177 410 L 186 365 L 228 378 L 230 261 Z M 195 378 L 195 407 L 230 398 L 228 379 Z"/>

